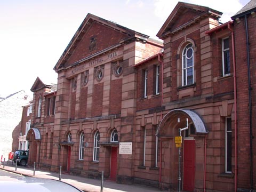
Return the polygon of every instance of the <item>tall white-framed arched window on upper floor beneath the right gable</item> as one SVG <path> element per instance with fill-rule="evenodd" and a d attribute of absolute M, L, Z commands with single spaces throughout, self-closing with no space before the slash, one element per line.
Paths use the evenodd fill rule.
<path fill-rule="evenodd" d="M 182 52 L 182 86 L 194 84 L 194 49 L 188 44 Z"/>

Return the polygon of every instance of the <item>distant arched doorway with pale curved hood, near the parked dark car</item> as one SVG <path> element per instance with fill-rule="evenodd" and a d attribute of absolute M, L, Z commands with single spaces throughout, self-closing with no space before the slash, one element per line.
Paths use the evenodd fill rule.
<path fill-rule="evenodd" d="M 29 155 L 28 165 L 34 165 L 34 162 L 39 164 L 40 162 L 40 142 L 41 134 L 37 128 L 31 128 L 26 136 L 26 140 L 29 142 Z"/>

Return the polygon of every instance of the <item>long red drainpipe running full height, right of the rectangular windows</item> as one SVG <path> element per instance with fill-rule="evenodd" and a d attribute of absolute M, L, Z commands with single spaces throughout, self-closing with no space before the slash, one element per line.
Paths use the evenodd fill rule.
<path fill-rule="evenodd" d="M 233 55 L 233 78 L 234 78 L 234 110 L 235 110 L 235 191 L 237 190 L 237 94 L 236 94 L 236 60 L 235 60 L 235 39 L 234 30 L 230 28 L 228 23 L 228 29 L 231 31 L 232 40 L 232 55 Z"/>

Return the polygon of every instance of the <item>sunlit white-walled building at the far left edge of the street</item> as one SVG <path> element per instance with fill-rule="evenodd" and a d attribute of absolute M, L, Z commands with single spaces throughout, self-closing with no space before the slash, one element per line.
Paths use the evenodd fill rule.
<path fill-rule="evenodd" d="M 19 148 L 21 129 L 20 117 L 22 106 L 30 100 L 29 95 L 21 90 L 0 100 L 0 158 L 8 160 L 9 153 Z"/>

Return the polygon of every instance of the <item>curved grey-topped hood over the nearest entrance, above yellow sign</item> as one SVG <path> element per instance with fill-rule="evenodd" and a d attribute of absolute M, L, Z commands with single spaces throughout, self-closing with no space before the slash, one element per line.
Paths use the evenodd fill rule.
<path fill-rule="evenodd" d="M 200 115 L 198 115 L 195 111 L 189 110 L 189 109 L 173 109 L 169 111 L 162 119 L 162 121 L 159 123 L 158 129 L 157 129 L 157 135 L 161 132 L 163 127 L 165 126 L 166 122 L 177 121 L 177 117 L 182 115 L 183 118 L 189 118 L 190 122 L 192 121 L 195 125 L 196 133 L 208 133 L 208 130 L 203 122 L 203 119 Z"/>

